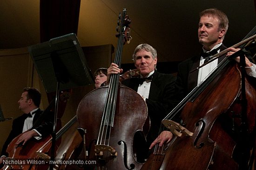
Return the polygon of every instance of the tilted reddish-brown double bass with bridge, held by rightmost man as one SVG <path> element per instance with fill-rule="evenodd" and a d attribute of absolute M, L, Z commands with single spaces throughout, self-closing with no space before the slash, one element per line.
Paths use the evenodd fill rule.
<path fill-rule="evenodd" d="M 251 34 L 255 31 L 244 43 L 256 37 Z M 255 101 L 256 79 L 224 58 L 162 121 L 176 137 L 162 154 L 151 155 L 141 170 L 249 170 Z M 182 125 L 172 121 L 177 113 Z"/>

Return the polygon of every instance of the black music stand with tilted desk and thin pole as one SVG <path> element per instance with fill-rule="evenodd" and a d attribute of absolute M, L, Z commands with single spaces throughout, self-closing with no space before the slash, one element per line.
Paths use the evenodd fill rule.
<path fill-rule="evenodd" d="M 74 33 L 29 46 L 28 51 L 46 91 L 56 90 L 51 148 L 51 160 L 54 161 L 59 91 L 94 84 L 94 78 Z M 52 164 L 50 170 L 53 170 Z"/>

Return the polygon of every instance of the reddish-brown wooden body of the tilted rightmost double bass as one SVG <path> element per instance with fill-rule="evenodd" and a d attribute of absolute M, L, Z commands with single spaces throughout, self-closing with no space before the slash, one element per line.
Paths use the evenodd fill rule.
<path fill-rule="evenodd" d="M 255 126 L 256 88 L 246 81 L 247 117 L 249 132 Z M 237 170 L 232 158 L 238 140 L 232 134 L 234 124 L 238 131 L 241 117 L 241 72 L 236 63 L 222 70 L 194 101 L 182 109 L 185 127 L 194 134 L 176 138 L 170 145 L 160 170 Z M 233 115 L 230 115 L 230 113 Z M 224 120 L 223 120 L 224 119 Z M 171 161 L 172 160 L 172 161 Z"/>

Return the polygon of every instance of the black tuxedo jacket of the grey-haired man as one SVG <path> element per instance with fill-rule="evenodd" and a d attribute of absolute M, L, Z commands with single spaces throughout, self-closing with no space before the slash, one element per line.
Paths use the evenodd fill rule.
<path fill-rule="evenodd" d="M 162 74 L 155 70 L 150 85 L 149 96 L 146 99 L 151 127 L 147 136 L 150 145 L 158 136 L 159 128 L 165 116 L 178 104 L 175 97 L 175 76 Z M 139 78 L 134 77 L 122 81 L 122 84 L 137 92 Z"/>

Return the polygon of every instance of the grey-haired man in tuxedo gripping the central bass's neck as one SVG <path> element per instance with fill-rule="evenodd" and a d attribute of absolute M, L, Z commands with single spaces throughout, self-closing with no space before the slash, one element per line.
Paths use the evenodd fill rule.
<path fill-rule="evenodd" d="M 175 97 L 175 76 L 162 74 L 156 70 L 157 53 L 148 44 L 140 44 L 133 54 L 135 67 L 140 72 L 140 77 L 129 78 L 122 84 L 132 88 L 146 101 L 151 127 L 147 135 L 147 146 L 157 137 L 161 121 L 177 105 Z M 108 78 L 111 74 L 121 73 L 118 65 L 111 63 L 108 68 Z M 148 149 L 147 149 L 148 150 Z"/>

